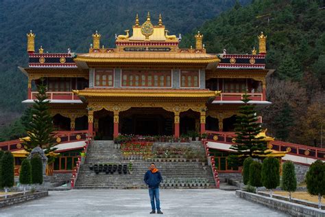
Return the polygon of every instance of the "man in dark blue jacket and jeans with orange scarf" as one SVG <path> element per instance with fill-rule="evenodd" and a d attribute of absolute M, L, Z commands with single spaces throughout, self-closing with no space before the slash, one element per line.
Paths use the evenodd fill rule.
<path fill-rule="evenodd" d="M 150 202 L 152 203 L 152 212 L 150 214 L 156 213 L 157 208 L 157 214 L 163 214 L 163 212 L 160 211 L 160 201 L 159 201 L 159 184 L 163 180 L 163 177 L 161 176 L 160 172 L 156 168 L 156 165 L 154 163 L 150 164 L 149 170 L 145 173 L 145 183 L 149 187 L 149 196 L 150 196 Z M 154 199 L 156 198 L 156 207 L 154 204 Z"/>

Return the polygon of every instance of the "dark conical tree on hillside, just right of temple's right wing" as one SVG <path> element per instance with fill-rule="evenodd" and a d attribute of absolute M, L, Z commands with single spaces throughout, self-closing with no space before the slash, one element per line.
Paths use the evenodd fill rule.
<path fill-rule="evenodd" d="M 289 137 L 290 127 L 293 126 L 291 106 L 285 102 L 283 104 L 283 109 L 280 114 L 274 117 L 274 122 L 276 123 L 276 137 L 281 140 L 286 140 Z"/>

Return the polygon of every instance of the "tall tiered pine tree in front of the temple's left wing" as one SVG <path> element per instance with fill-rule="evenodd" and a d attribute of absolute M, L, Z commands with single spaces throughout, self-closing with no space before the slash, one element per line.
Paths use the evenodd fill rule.
<path fill-rule="evenodd" d="M 49 158 L 48 162 L 53 161 L 49 152 L 53 152 L 56 148 L 56 139 L 53 137 L 53 117 L 49 113 L 49 100 L 47 100 L 46 87 L 43 84 L 38 85 L 37 100 L 30 110 L 27 110 L 23 118 L 23 124 L 29 141 L 25 140 L 23 145 L 27 152 L 31 152 L 33 148 L 39 146 L 45 149 L 45 155 Z"/>

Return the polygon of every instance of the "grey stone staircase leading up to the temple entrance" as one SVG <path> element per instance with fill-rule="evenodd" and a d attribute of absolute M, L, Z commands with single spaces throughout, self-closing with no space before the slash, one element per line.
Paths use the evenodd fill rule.
<path fill-rule="evenodd" d="M 204 156 L 204 147 L 200 141 L 193 141 L 191 143 L 154 143 L 153 150 L 161 146 L 186 146 L 191 148 L 194 152 Z M 99 163 L 122 163 L 129 164 L 132 161 L 132 174 L 105 174 L 99 172 L 95 174 L 93 170 L 89 169 L 90 165 Z M 147 188 L 143 182 L 143 176 L 149 168 L 151 161 L 136 159 L 124 160 L 121 155 L 121 149 L 115 148 L 113 141 L 92 141 L 88 147 L 87 157 L 84 164 L 81 165 L 78 179 L 75 183 L 75 189 L 95 189 L 95 188 L 109 188 L 109 189 L 132 189 L 132 188 Z M 155 162 L 158 170 L 163 175 L 163 179 L 178 181 L 182 180 L 206 180 L 208 186 L 215 187 L 213 180 L 213 173 L 210 166 L 202 165 L 201 162 Z M 165 188 L 203 188 L 201 186 L 181 186 L 181 185 L 161 185 Z"/>

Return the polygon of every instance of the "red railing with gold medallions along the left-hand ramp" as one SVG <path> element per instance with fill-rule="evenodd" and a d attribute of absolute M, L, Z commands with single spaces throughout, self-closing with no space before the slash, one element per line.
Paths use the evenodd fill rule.
<path fill-rule="evenodd" d="M 67 143 L 71 141 L 83 141 L 86 140 L 86 136 L 88 135 L 88 130 L 77 130 L 77 131 L 56 131 L 54 132 L 56 137 L 56 141 L 59 144 Z M 23 149 L 22 145 L 23 141 L 19 139 L 11 140 L 11 141 L 2 141 L 0 142 L 0 150 L 21 150 Z"/>

